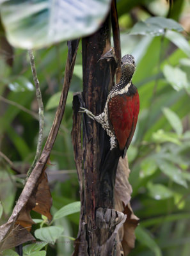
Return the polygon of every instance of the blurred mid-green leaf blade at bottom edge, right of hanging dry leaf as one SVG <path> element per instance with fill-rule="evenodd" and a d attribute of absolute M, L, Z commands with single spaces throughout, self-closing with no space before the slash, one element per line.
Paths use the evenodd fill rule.
<path fill-rule="evenodd" d="M 154 238 L 148 232 L 148 230 L 138 226 L 135 230 L 135 234 L 138 241 L 154 252 L 155 256 L 162 256 L 161 248 L 159 248 L 157 243 L 155 243 Z"/>

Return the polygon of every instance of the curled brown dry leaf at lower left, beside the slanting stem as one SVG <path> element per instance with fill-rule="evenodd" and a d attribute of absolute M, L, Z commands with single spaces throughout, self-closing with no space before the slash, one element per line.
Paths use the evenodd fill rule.
<path fill-rule="evenodd" d="M 32 181 L 33 180 L 29 177 L 27 184 L 31 184 Z M 0 227 L 0 250 L 13 248 L 19 244 L 26 243 L 28 240 L 35 240 L 29 233 L 31 226 L 35 224 L 30 216 L 31 210 L 44 214 L 49 221 L 52 220 L 50 213 L 52 197 L 45 168 L 40 175 L 38 182 L 36 182 L 36 184 L 31 184 L 31 186 L 33 186 L 31 196 L 26 199 L 26 196 L 21 194 L 22 202 L 18 200 L 8 222 Z M 25 188 L 28 188 L 28 186 L 25 186 Z M 25 188 L 23 191 L 25 194 L 28 194 L 29 191 Z M 24 204 L 24 199 L 26 199 L 26 204 Z"/>

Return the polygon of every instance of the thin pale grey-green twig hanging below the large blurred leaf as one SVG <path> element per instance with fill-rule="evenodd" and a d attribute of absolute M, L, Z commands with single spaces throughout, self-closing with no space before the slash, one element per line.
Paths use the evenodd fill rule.
<path fill-rule="evenodd" d="M 42 141 L 43 141 L 43 131 L 44 131 L 44 105 L 42 102 L 42 93 L 40 91 L 40 85 L 36 73 L 36 67 L 35 67 L 35 57 L 33 55 L 33 51 L 29 50 L 29 60 L 31 65 L 31 70 L 33 73 L 33 80 L 35 82 L 36 87 L 36 99 L 38 101 L 38 108 L 39 108 L 39 136 L 38 136 L 38 144 L 36 148 L 36 155 L 33 163 L 31 164 L 31 167 L 28 170 L 27 177 L 29 177 L 30 173 L 32 172 L 33 168 L 35 168 L 35 165 L 40 158 L 41 150 L 42 150 Z"/>

